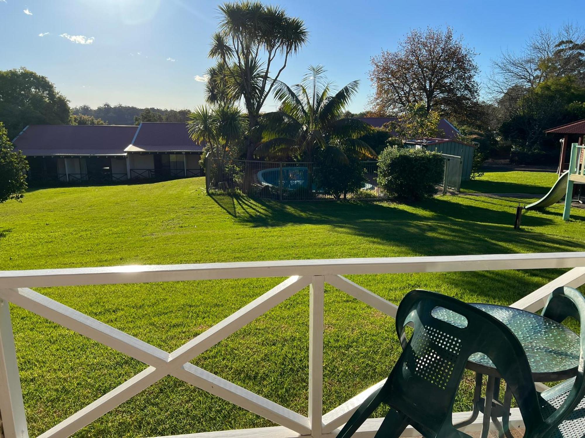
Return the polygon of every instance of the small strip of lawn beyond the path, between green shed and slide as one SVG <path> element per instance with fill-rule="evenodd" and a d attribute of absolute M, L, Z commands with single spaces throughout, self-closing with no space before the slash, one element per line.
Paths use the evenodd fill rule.
<path fill-rule="evenodd" d="M 554 172 L 486 172 L 473 181 L 464 181 L 462 192 L 545 194 L 558 179 Z"/>

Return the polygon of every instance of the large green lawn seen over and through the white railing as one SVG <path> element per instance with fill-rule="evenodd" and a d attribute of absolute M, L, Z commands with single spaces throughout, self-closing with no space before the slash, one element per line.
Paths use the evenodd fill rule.
<path fill-rule="evenodd" d="M 512 172 L 510 172 L 512 173 Z M 554 176 L 554 175 L 553 175 Z M 524 181 L 524 180 L 523 180 Z M 583 251 L 585 213 L 562 206 L 525 215 L 516 200 L 441 196 L 392 203 L 258 202 L 205 195 L 204 181 L 64 187 L 0 205 L 0 269 L 511 252 Z M 510 304 L 560 274 L 522 272 L 352 276 L 399 303 L 413 288 Z M 53 287 L 40 292 L 170 351 L 281 279 Z M 387 376 L 400 346 L 393 319 L 326 286 L 325 395 L 329 411 Z M 142 363 L 18 307 L 12 322 L 31 436 L 144 369 Z M 193 363 L 307 414 L 308 290 Z M 458 410 L 469 410 L 470 376 Z M 380 412 L 383 413 L 383 412 Z M 167 377 L 77 436 L 159 436 L 270 425 Z"/>

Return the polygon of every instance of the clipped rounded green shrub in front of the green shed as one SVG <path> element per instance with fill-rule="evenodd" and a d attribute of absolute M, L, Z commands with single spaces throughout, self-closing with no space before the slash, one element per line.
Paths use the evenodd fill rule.
<path fill-rule="evenodd" d="M 403 201 L 433 196 L 443 181 L 444 160 L 424 149 L 386 148 L 378 161 L 378 186 Z"/>

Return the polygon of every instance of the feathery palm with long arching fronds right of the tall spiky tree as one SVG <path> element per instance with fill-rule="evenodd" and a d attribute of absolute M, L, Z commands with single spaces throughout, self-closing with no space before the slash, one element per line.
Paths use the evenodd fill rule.
<path fill-rule="evenodd" d="M 259 154 L 309 162 L 318 152 L 326 160 L 338 162 L 347 162 L 348 156 L 376 158 L 376 152 L 359 139 L 371 133 L 371 126 L 359 119 L 343 117 L 359 81 L 350 82 L 334 93 L 325 71 L 322 65 L 309 67 L 301 83 L 292 88 L 278 82 L 274 94 L 280 108 L 260 117 L 263 143 Z"/>

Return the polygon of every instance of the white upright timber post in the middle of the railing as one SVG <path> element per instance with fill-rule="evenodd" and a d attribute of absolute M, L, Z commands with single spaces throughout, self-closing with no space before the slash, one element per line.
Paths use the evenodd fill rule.
<path fill-rule="evenodd" d="M 314 276 L 309 293 L 309 422 L 313 438 L 320 438 L 323 428 L 324 287 L 324 277 Z"/>

